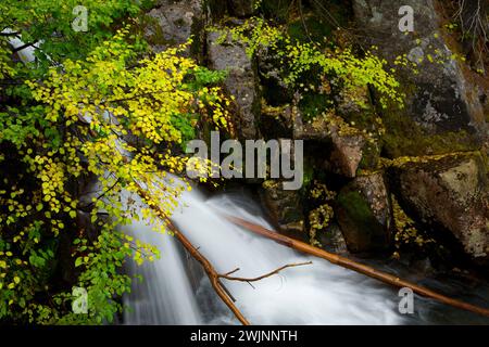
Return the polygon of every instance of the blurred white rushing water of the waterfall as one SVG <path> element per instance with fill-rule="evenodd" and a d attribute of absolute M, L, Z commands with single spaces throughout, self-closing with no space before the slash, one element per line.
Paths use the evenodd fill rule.
<path fill-rule="evenodd" d="M 254 288 L 248 283 L 224 281 L 237 299 L 238 308 L 253 324 L 402 323 L 397 313 L 394 291 L 253 235 L 220 217 L 221 210 L 272 229 L 251 198 L 224 194 L 205 200 L 193 190 L 184 193 L 180 202 L 174 222 L 222 273 L 239 268 L 235 275 L 254 278 L 286 264 L 313 261 L 313 265 L 289 268 L 254 282 Z M 187 261 L 172 236 L 155 233 L 139 223 L 130 229 L 138 237 L 158 245 L 162 258 L 136 270 L 145 277 L 145 282 L 136 284 L 126 298 L 134 311 L 125 316 L 125 323 L 237 323 L 218 303 L 206 279 L 200 281 L 195 294 L 186 271 Z M 129 270 L 134 273 L 135 268 Z"/>

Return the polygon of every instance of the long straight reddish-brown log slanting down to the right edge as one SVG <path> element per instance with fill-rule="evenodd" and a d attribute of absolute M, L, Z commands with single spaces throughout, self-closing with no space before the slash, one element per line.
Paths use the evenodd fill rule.
<path fill-rule="evenodd" d="M 238 217 L 233 217 L 233 216 L 225 216 L 226 219 L 228 219 L 229 221 L 231 221 L 233 223 L 243 227 L 259 235 L 265 236 L 267 239 L 272 239 L 287 247 L 293 248 L 296 250 L 300 250 L 302 253 L 306 253 L 310 254 L 312 256 L 318 257 L 318 258 L 323 258 L 328 260 L 331 264 L 341 266 L 343 268 L 363 273 L 367 277 L 371 277 L 373 279 L 383 281 L 385 283 L 388 283 L 390 285 L 393 286 L 398 286 L 398 287 L 409 287 L 411 288 L 414 293 L 417 293 L 422 296 L 426 296 L 432 299 L 436 299 L 440 303 L 447 304 L 447 305 L 451 305 L 453 307 L 456 308 L 461 308 L 467 311 L 472 311 L 478 314 L 482 314 L 486 317 L 489 317 L 489 309 L 486 308 L 481 308 L 481 307 L 477 307 L 467 303 L 463 303 L 453 298 L 450 298 L 446 295 L 436 293 L 431 290 L 425 288 L 423 286 L 419 286 L 417 284 L 401 280 L 398 277 L 394 277 L 392 274 L 383 272 L 383 271 L 378 271 L 374 268 L 371 268 L 366 265 L 356 262 L 354 260 L 351 260 L 349 258 L 346 257 L 341 257 L 337 254 L 333 254 L 326 250 L 323 250 L 321 248 L 311 246 L 304 242 L 298 241 L 298 240 L 293 240 L 290 237 L 287 237 L 285 235 L 281 235 L 277 232 L 271 231 L 268 229 L 265 229 L 261 226 L 251 223 L 244 219 L 238 218 Z"/>

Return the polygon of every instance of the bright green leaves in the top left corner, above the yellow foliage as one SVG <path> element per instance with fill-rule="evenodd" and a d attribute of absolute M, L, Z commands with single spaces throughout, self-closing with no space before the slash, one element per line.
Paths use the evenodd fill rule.
<path fill-rule="evenodd" d="M 60 62 L 80 59 L 101 41 L 112 36 L 111 26 L 139 13 L 149 1 L 136 0 L 4 0 L 0 4 L 0 22 L 4 28 L 20 33 L 26 43 L 36 44 L 36 54 Z M 88 11 L 87 31 L 76 31 L 72 23 L 74 9 Z"/>

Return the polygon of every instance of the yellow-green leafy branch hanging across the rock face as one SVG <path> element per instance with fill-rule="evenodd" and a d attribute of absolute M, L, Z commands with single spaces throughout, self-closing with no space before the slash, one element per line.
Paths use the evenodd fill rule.
<path fill-rule="evenodd" d="M 278 65 L 283 66 L 284 82 L 289 87 L 298 85 L 305 74 L 313 72 L 316 77 L 322 77 L 319 86 L 315 87 L 318 90 L 336 85 L 339 90 L 351 91 L 349 94 L 354 95 L 356 89 L 372 86 L 379 93 L 384 107 L 389 102 L 403 105 L 399 82 L 386 70 L 387 62 L 373 52 L 368 51 L 359 57 L 350 48 L 322 49 L 315 42 L 294 40 L 284 28 L 274 27 L 259 17 L 233 28 L 214 27 L 211 30 L 221 33 L 221 43 L 230 39 L 246 44 L 250 56 L 266 50 L 266 54 L 275 56 Z M 353 101 L 365 106 L 361 98 Z"/>

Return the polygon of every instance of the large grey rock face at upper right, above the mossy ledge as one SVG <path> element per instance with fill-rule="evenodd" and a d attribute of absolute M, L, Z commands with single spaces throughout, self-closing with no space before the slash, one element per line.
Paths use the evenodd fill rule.
<path fill-rule="evenodd" d="M 399 29 L 402 16 L 398 11 L 402 5 L 414 10 L 414 33 Z M 456 150 L 479 147 L 487 137 L 487 125 L 477 88 L 452 59 L 453 52 L 440 30 L 434 1 L 354 0 L 353 8 L 359 26 L 368 37 L 367 43 L 377 46 L 380 56 L 392 63 L 397 56 L 405 54 L 411 63 L 417 64 L 417 75 L 411 67 L 392 65 L 406 93 L 406 107 L 391 111 L 394 116 L 386 112 L 387 134 L 397 136 L 388 141 L 389 154 L 440 154 L 454 151 L 453 146 L 457 146 Z M 428 137 L 432 137 L 432 141 L 448 141 L 436 145 L 429 143 Z M 399 143 L 402 141 L 405 145 Z"/>

